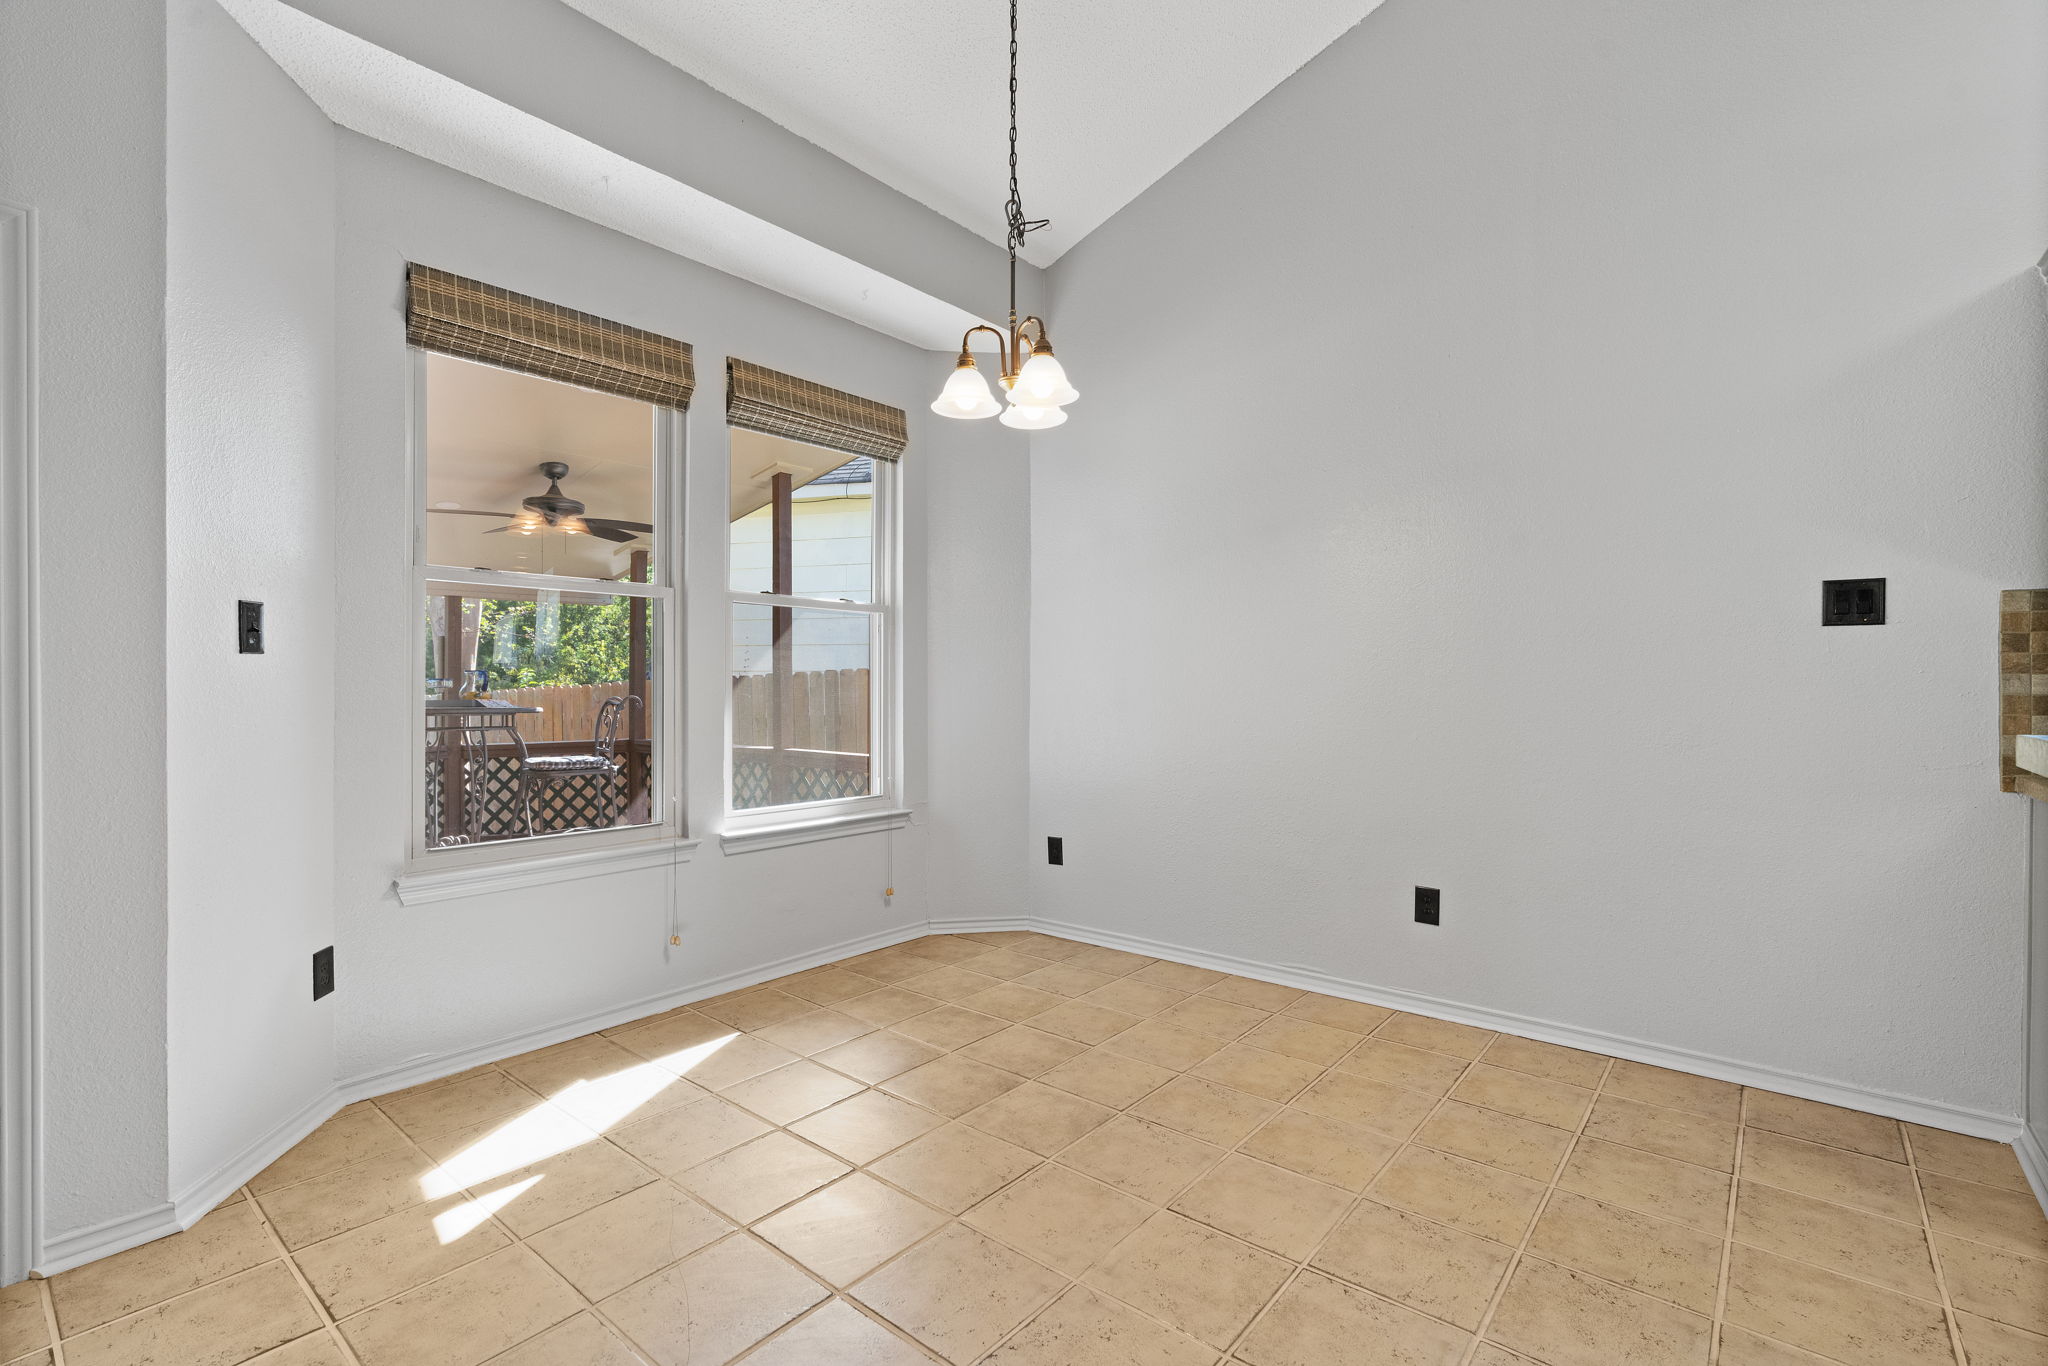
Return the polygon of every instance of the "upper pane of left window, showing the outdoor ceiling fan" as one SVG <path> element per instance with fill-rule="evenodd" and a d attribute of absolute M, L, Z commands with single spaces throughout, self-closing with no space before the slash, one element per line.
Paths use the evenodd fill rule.
<path fill-rule="evenodd" d="M 426 563 L 643 578 L 635 563 L 655 549 L 653 412 L 430 352 Z"/>

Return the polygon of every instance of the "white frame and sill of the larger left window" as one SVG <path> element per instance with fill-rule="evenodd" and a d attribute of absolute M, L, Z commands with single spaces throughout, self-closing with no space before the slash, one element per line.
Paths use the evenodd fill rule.
<path fill-rule="evenodd" d="M 543 887 L 573 877 L 594 877 L 598 872 L 623 872 L 668 862 L 686 862 L 696 850 L 696 840 L 688 838 L 688 809 L 684 805 L 684 713 L 682 713 L 682 594 L 684 594 L 684 485 L 686 446 L 684 414 L 672 408 L 653 408 L 653 569 L 649 584 L 629 584 L 618 580 L 580 580 L 553 573 L 514 573 L 506 569 L 463 569 L 453 565 L 426 563 L 426 352 L 412 348 L 406 389 L 408 416 L 408 487 L 412 489 L 412 600 L 410 612 L 416 616 L 426 602 L 426 586 L 463 584 L 475 588 L 539 588 L 551 592 L 602 592 L 616 598 L 649 598 L 662 602 L 655 621 L 655 680 L 653 680 L 653 799 L 659 801 L 662 819 L 647 825 L 627 825 L 616 829 L 575 829 L 528 840 L 504 840 L 494 844 L 426 844 L 426 727 L 418 713 L 420 688 L 408 688 L 414 723 L 408 748 L 406 786 L 410 793 L 406 862 L 393 889 L 403 905 L 446 901 L 453 897 L 479 895 L 485 891 L 508 891 L 514 887 Z M 418 657 L 414 657 L 418 670 Z"/>

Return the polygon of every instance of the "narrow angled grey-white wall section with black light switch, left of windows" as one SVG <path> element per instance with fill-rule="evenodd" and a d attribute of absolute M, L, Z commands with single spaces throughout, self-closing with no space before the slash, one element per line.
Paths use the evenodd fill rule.
<path fill-rule="evenodd" d="M 170 1190 L 330 1090 L 334 125 L 213 0 L 170 8 Z M 236 649 L 236 600 L 266 649 Z M 213 1192 L 219 1194 L 219 1192 Z"/>

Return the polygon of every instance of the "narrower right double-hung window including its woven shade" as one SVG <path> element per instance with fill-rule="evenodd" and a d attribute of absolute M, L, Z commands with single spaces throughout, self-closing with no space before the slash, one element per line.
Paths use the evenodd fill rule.
<path fill-rule="evenodd" d="M 729 395 L 729 811 L 885 805 L 903 416 L 737 360 Z"/>

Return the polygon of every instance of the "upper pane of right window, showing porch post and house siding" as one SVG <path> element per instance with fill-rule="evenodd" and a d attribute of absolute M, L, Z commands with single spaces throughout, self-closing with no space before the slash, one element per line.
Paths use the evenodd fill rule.
<path fill-rule="evenodd" d="M 733 432 L 733 592 L 874 600 L 874 461 Z M 791 582 L 774 580 L 774 489 L 788 475 Z"/>

